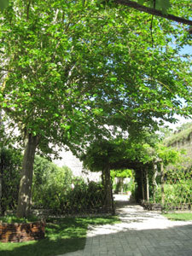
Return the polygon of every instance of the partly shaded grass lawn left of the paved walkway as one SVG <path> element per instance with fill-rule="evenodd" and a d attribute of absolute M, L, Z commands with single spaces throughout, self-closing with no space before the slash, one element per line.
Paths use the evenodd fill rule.
<path fill-rule="evenodd" d="M 82 250 L 89 224 L 115 224 L 119 222 L 119 218 L 49 218 L 46 221 L 45 239 L 0 243 L 0 255 L 55 256 Z"/>

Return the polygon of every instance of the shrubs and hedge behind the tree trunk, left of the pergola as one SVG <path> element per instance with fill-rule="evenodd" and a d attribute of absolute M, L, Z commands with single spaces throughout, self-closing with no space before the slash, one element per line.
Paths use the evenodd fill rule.
<path fill-rule="evenodd" d="M 1 150 L 3 212 L 15 210 L 19 192 L 21 159 L 20 151 L 5 148 Z M 100 183 L 84 183 L 83 178 L 73 177 L 72 171 L 67 166 L 59 167 L 49 160 L 36 156 L 32 185 L 33 208 L 50 209 L 55 214 L 63 212 L 71 214 L 99 211 L 104 201 L 105 193 Z"/>

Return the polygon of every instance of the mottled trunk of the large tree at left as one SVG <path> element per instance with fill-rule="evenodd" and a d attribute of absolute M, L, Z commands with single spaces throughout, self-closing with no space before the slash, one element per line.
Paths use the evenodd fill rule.
<path fill-rule="evenodd" d="M 22 172 L 20 177 L 20 191 L 16 213 L 18 218 L 25 218 L 29 214 L 32 197 L 33 163 L 37 146 L 38 137 L 29 134 L 23 156 Z"/>

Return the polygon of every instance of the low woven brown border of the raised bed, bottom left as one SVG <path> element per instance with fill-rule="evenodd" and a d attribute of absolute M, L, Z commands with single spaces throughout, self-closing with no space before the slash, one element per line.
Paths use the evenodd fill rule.
<path fill-rule="evenodd" d="M 0 223 L 0 241 L 19 242 L 44 239 L 44 221 L 34 223 Z"/>

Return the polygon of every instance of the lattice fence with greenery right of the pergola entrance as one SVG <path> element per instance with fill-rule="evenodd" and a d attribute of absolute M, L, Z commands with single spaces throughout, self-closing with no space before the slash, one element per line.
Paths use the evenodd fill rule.
<path fill-rule="evenodd" d="M 165 211 L 192 211 L 192 168 L 189 170 L 165 170 L 154 177 L 144 177 L 144 204 L 148 208 L 161 206 Z M 148 180 L 149 179 L 149 180 Z M 155 207 L 154 207 L 155 208 Z"/>

